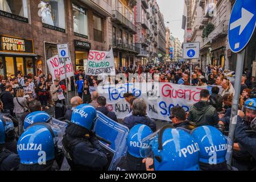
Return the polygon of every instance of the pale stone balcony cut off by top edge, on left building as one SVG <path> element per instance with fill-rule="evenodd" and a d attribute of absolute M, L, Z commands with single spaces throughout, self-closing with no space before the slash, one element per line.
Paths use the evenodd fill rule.
<path fill-rule="evenodd" d="M 96 10 L 101 15 L 104 15 L 105 17 L 111 17 L 112 15 L 112 7 L 108 3 L 102 0 L 81 0 L 81 2 L 84 2 L 86 5 L 91 7 L 92 9 Z"/>

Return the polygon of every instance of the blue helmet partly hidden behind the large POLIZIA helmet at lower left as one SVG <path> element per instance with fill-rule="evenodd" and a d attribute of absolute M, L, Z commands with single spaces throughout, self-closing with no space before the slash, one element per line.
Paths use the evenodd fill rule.
<path fill-rule="evenodd" d="M 48 123 L 51 118 L 52 117 L 44 111 L 32 112 L 28 114 L 27 117 L 24 119 L 24 130 L 26 130 L 28 126 L 36 122 Z"/>

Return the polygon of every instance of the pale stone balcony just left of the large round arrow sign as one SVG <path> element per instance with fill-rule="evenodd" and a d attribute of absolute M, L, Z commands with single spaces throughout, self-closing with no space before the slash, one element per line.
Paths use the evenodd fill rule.
<path fill-rule="evenodd" d="M 224 38 L 228 35 L 228 21 L 222 20 L 217 27 L 209 34 L 208 38 L 201 42 L 201 48 L 208 48 L 211 46 L 213 40 Z"/>

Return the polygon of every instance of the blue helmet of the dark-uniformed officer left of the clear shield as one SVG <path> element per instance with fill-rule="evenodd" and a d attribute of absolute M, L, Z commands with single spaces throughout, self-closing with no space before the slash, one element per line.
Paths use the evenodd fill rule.
<path fill-rule="evenodd" d="M 96 119 L 96 109 L 89 104 L 81 104 L 73 110 L 71 122 L 90 130 Z"/>

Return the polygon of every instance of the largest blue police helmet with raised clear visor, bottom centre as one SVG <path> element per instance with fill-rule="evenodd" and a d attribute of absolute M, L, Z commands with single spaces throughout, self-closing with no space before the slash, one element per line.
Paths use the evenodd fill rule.
<path fill-rule="evenodd" d="M 198 171 L 199 147 L 184 130 L 167 125 L 142 140 L 141 155 L 155 171 Z"/>

